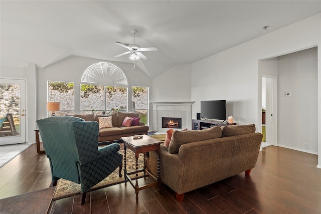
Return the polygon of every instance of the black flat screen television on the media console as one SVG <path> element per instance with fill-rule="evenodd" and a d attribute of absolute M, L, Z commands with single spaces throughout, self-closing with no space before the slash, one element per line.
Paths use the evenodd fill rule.
<path fill-rule="evenodd" d="M 226 120 L 226 100 L 201 101 L 201 118 Z"/>

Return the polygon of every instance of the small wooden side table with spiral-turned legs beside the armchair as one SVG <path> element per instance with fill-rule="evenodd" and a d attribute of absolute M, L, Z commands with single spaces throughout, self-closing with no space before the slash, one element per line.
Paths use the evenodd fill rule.
<path fill-rule="evenodd" d="M 132 187 L 134 187 L 135 192 L 136 192 L 136 200 L 138 200 L 138 191 L 149 188 L 150 186 L 155 186 L 157 185 L 157 190 L 159 191 L 159 187 L 161 186 L 161 176 L 159 175 L 160 173 L 160 163 L 159 163 L 159 154 L 161 153 L 161 143 L 162 141 L 159 141 L 155 138 L 149 137 L 148 135 L 142 135 L 141 138 L 133 138 L 131 137 L 122 137 L 121 138 L 124 141 L 124 174 L 125 174 L 125 183 L 127 181 L 130 182 Z M 129 148 L 135 153 L 135 158 L 136 158 L 136 170 L 132 172 L 127 173 L 126 169 L 126 148 Z M 158 157 L 157 157 L 157 177 L 155 177 L 147 168 L 146 168 L 146 152 L 149 151 L 157 151 Z M 139 153 L 144 153 L 144 167 L 143 169 L 138 170 L 138 156 Z M 146 173 L 155 180 L 155 182 L 143 185 L 143 186 L 138 186 L 138 172 L 144 172 L 144 176 L 146 176 Z M 131 178 L 129 177 L 130 174 L 135 174 L 135 185 Z"/>

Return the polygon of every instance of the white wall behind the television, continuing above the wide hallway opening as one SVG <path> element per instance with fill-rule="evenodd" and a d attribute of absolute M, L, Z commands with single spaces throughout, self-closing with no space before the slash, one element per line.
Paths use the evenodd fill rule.
<path fill-rule="evenodd" d="M 237 36 L 237 34 L 236 34 Z M 227 112 L 238 124 L 260 127 L 261 72 L 258 61 L 321 45 L 321 14 L 270 32 L 192 64 L 192 114 L 201 100 L 226 99 Z M 318 49 L 318 90 L 321 89 L 321 49 Z M 318 127 L 321 127 L 321 94 L 318 95 Z M 320 130 L 320 128 L 319 128 Z M 321 131 L 318 148 L 321 151 Z M 321 157 L 318 160 L 321 167 Z"/>

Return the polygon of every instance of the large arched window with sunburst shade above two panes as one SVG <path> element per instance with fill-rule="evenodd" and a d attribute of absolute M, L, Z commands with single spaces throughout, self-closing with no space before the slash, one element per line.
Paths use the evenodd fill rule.
<path fill-rule="evenodd" d="M 128 81 L 124 72 L 114 64 L 99 62 L 89 66 L 81 77 L 81 112 L 127 112 Z"/>

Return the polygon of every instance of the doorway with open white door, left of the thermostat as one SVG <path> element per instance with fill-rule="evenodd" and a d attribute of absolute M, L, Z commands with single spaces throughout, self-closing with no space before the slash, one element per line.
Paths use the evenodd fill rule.
<path fill-rule="evenodd" d="M 262 148 L 274 145 L 277 139 L 277 77 L 261 75 Z"/>

